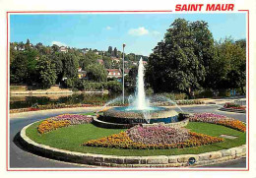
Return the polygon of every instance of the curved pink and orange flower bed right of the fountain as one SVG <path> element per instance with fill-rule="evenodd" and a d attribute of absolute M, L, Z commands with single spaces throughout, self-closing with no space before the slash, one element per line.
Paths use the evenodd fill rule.
<path fill-rule="evenodd" d="M 241 132 L 246 132 L 246 125 L 243 122 L 214 113 L 195 113 L 189 118 L 189 121 L 219 124 Z"/>

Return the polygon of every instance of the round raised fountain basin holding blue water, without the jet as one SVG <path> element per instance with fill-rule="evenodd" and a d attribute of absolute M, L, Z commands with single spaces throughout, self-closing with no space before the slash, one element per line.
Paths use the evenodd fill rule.
<path fill-rule="evenodd" d="M 153 124 L 179 122 L 179 114 L 166 107 L 148 107 L 145 110 L 137 110 L 133 107 L 114 107 L 103 112 L 98 118 L 101 121 L 117 124 Z"/>

